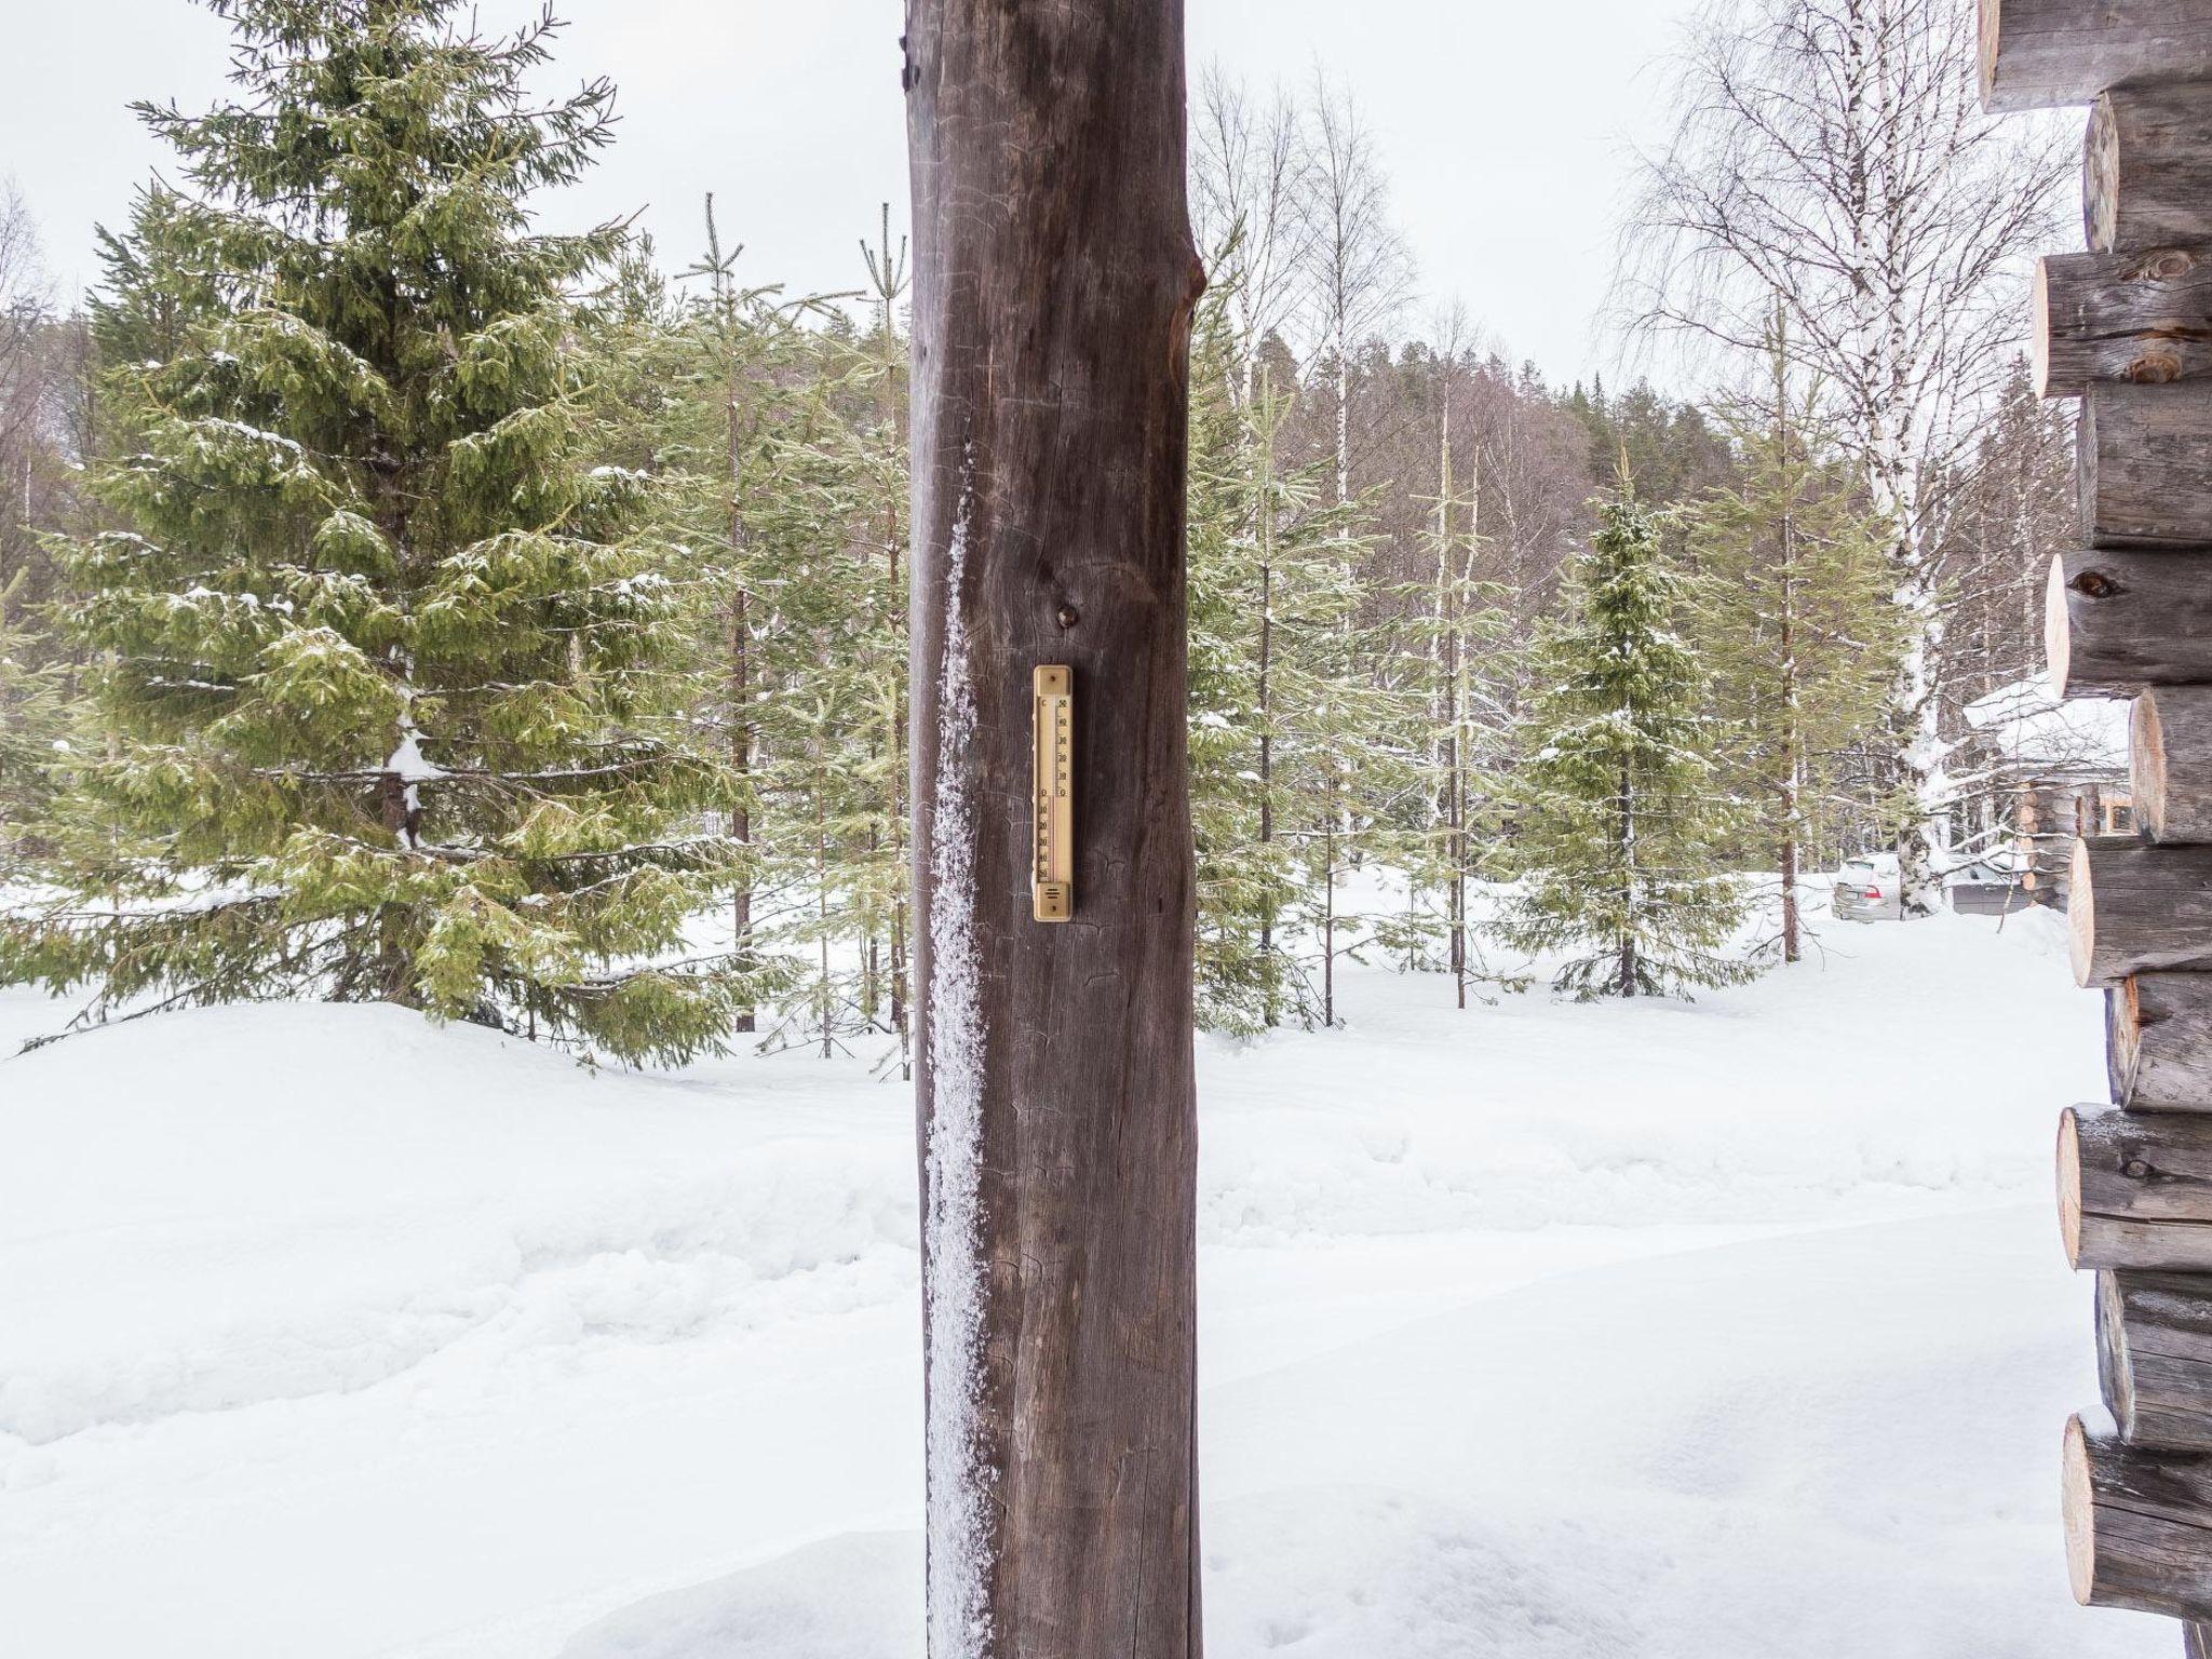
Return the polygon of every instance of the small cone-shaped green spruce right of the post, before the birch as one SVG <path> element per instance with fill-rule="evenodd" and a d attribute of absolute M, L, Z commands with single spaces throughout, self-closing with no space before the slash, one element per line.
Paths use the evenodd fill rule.
<path fill-rule="evenodd" d="M 1522 889 L 1500 922 L 1524 951 L 1571 951 L 1553 989 L 1686 993 L 1752 969 L 1725 956 L 1743 894 L 1721 867 L 1741 812 L 1712 761 L 1721 726 L 1672 633 L 1681 580 L 1635 500 L 1606 502 L 1568 568 L 1568 617 L 1537 641 L 1520 776 Z"/>

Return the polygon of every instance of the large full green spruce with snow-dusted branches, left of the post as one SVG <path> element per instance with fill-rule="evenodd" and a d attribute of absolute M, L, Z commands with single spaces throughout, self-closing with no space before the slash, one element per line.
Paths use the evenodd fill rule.
<path fill-rule="evenodd" d="M 0 975 L 142 1006 L 387 1000 L 622 1057 L 717 1044 L 723 768 L 672 719 L 679 602 L 595 467 L 573 296 L 622 232 L 531 230 L 613 88 L 542 100 L 555 22 L 456 0 L 217 0 L 237 93 L 142 106 L 181 157 L 108 241 L 128 531 L 71 549 L 119 743 L 82 898 Z M 117 858 L 106 814 L 144 836 Z"/>

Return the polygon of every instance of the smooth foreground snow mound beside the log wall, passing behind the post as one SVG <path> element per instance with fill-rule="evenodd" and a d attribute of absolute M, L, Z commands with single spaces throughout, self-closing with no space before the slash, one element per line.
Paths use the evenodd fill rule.
<path fill-rule="evenodd" d="M 1223 1659 L 2090 1659 L 2057 1429 L 2086 1285 L 2044 1208 L 1553 1279 L 1210 1389 Z M 1971 1321 L 1960 1310 L 1973 1310 Z M 916 1533 L 608 1617 L 562 1659 L 920 1659 Z"/>

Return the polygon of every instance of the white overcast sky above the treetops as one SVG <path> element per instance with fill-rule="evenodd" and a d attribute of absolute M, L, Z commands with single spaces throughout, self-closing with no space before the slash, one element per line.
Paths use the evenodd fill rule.
<path fill-rule="evenodd" d="M 482 0 L 487 24 L 529 0 Z M 1422 307 L 1458 299 L 1553 378 L 1608 358 L 1604 303 L 1630 144 L 1666 126 L 1666 73 L 1694 0 L 1188 0 L 1192 64 L 1254 86 L 1316 64 L 1360 100 L 1420 261 Z M 644 208 L 664 257 L 699 243 L 714 190 L 750 281 L 858 285 L 858 239 L 905 223 L 900 0 L 564 0 L 560 69 L 613 75 L 622 128 L 553 223 Z M 11 0 L 0 177 L 40 219 L 64 296 L 95 276 L 161 159 L 126 102 L 210 102 L 223 29 L 188 0 Z M 1192 75 L 1197 80 L 1197 75 Z"/>

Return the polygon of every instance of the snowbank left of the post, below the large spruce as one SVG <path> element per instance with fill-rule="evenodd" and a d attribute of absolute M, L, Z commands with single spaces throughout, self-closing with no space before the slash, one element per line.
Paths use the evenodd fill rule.
<path fill-rule="evenodd" d="M 885 1137 L 400 1009 L 173 1015 L 0 1075 L 0 1438 L 29 1444 L 914 1272 Z"/>

